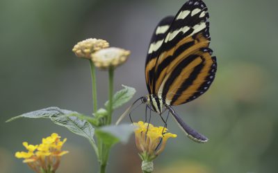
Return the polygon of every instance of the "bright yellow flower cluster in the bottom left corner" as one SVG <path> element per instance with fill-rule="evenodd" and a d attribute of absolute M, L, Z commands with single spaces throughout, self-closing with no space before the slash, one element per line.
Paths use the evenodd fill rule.
<path fill-rule="evenodd" d="M 67 154 L 67 151 L 62 151 L 62 147 L 67 138 L 60 140 L 58 134 L 51 134 L 47 138 L 42 138 L 40 145 L 28 145 L 24 142 L 23 146 L 28 152 L 16 152 L 15 157 L 24 158 L 24 163 L 35 172 L 55 172 L 60 164 L 60 156 Z"/>

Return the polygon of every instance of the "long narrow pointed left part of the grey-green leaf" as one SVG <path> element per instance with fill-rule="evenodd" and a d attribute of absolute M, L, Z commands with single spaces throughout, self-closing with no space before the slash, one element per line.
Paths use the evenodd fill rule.
<path fill-rule="evenodd" d="M 15 116 L 13 118 L 10 118 L 9 120 L 6 120 L 6 122 L 16 120 L 17 118 L 49 118 L 51 116 L 59 116 L 59 115 L 65 115 L 70 113 L 76 113 L 76 112 L 60 109 L 58 107 L 48 107 L 45 109 L 40 109 L 38 111 L 31 111 L 28 113 L 24 113 L 20 116 Z"/>

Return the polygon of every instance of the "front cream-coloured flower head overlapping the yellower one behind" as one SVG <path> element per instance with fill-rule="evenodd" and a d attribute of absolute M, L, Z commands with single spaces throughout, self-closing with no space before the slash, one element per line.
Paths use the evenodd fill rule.
<path fill-rule="evenodd" d="M 92 53 L 92 62 L 100 69 L 108 69 L 109 67 L 117 67 L 126 62 L 130 55 L 130 51 L 122 48 L 104 48 L 100 51 Z"/>

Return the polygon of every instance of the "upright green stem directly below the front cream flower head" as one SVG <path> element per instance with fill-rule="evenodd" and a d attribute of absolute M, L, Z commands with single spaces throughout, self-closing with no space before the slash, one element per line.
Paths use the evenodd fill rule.
<path fill-rule="evenodd" d="M 110 67 L 109 68 L 109 105 L 108 105 L 108 121 L 107 125 L 111 125 L 111 120 L 112 120 L 112 112 L 113 112 L 113 79 L 114 79 L 114 68 Z"/>

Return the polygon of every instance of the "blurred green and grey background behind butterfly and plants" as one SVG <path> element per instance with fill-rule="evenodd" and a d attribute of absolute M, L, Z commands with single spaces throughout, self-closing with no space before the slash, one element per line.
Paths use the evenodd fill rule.
<path fill-rule="evenodd" d="M 57 132 L 67 138 L 58 172 L 97 172 L 93 149 L 84 138 L 49 120 L 5 120 L 20 113 L 57 106 L 90 115 L 90 68 L 72 53 L 89 37 L 131 51 L 115 73 L 121 84 L 147 94 L 144 65 L 154 27 L 175 15 L 184 1 L 1 0 L 0 1 L 0 172 L 31 172 L 14 157 L 23 141 L 40 143 Z M 277 1 L 205 1 L 210 12 L 211 48 L 218 73 L 211 89 L 197 100 L 175 107 L 183 120 L 206 135 L 197 144 L 178 134 L 155 161 L 155 172 L 277 172 Z M 97 71 L 99 103 L 107 98 L 107 73 Z M 99 104 L 99 105 L 100 105 Z M 130 104 L 130 103 L 129 103 Z M 115 111 L 114 121 L 126 109 Z M 133 114 L 138 120 L 145 107 Z M 156 118 L 157 122 L 159 118 Z M 128 122 L 128 118 L 125 119 Z M 92 171 L 93 169 L 93 171 Z M 108 172 L 140 172 L 133 137 L 112 150 Z"/>

